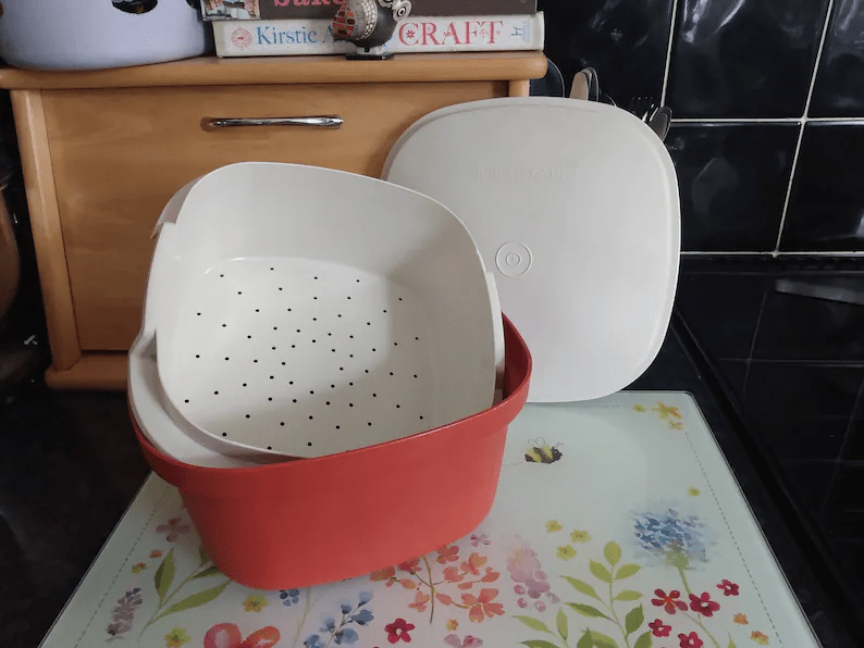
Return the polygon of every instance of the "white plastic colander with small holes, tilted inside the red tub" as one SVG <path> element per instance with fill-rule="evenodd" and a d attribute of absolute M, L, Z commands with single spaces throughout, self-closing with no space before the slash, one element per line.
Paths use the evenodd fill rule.
<path fill-rule="evenodd" d="M 150 354 L 158 372 L 160 394 L 138 407 L 176 423 L 160 412 L 150 428 L 136 412 L 161 450 L 319 457 L 493 403 L 504 358 L 494 283 L 462 223 L 431 198 L 249 162 L 190 183 L 158 227 L 132 356 Z"/>

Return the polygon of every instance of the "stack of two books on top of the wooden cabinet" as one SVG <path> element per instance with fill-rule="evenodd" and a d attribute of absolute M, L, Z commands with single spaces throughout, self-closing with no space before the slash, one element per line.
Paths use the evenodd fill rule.
<path fill-rule="evenodd" d="M 219 57 L 341 54 L 356 46 L 333 39 L 347 0 L 201 0 Z M 384 45 L 385 53 L 542 50 L 536 0 L 415 0 Z"/>

